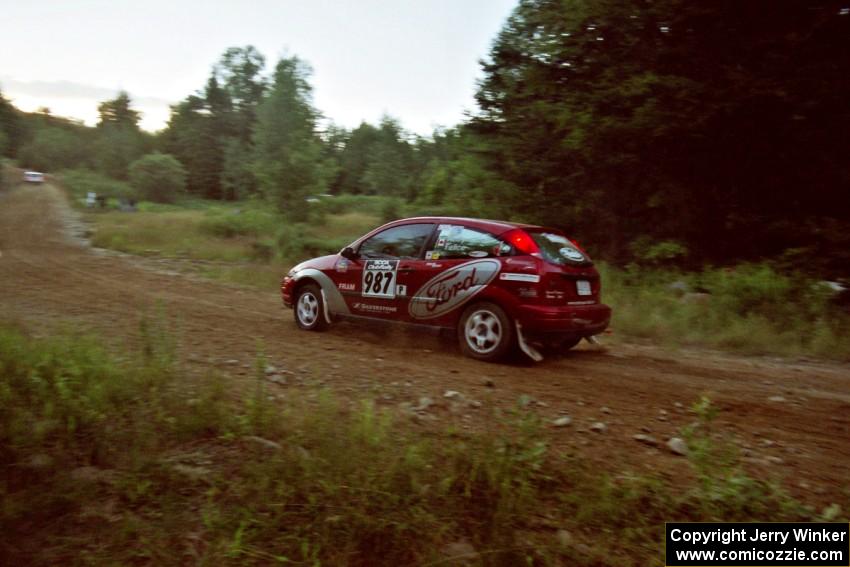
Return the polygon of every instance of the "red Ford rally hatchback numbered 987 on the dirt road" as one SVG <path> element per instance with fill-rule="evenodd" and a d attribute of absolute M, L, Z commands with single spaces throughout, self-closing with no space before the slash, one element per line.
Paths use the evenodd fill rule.
<path fill-rule="evenodd" d="M 397 220 L 339 254 L 292 268 L 280 286 L 304 330 L 369 318 L 456 330 L 461 350 L 497 360 L 519 346 L 568 349 L 606 329 L 599 273 L 558 230 L 453 217 Z"/>

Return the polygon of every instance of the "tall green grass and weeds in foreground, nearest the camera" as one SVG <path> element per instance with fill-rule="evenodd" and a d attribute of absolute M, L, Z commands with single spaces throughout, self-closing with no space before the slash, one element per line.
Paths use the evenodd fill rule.
<path fill-rule="evenodd" d="M 234 396 L 181 372 L 168 326 L 131 353 L 0 326 L 4 564 L 437 565 L 465 540 L 476 564 L 661 565 L 664 521 L 840 516 L 718 459 L 705 400 L 698 480 L 673 488 L 553 452 L 521 409 L 424 430 L 368 398 L 281 400 L 262 357 Z"/>

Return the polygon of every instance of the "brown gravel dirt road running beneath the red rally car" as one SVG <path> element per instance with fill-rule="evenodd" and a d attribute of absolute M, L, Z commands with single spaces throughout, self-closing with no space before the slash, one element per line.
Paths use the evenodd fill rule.
<path fill-rule="evenodd" d="M 73 219 L 50 184 L 0 193 L 0 319 L 34 332 L 94 331 L 122 343 L 136 336 L 142 314 L 161 305 L 177 321 L 181 356 L 194 373 L 216 371 L 239 384 L 252 374 L 259 345 L 271 364 L 292 373 L 288 385 L 273 386 L 281 396 L 321 385 L 387 407 L 429 397 L 435 405 L 428 415 L 459 427 L 475 427 L 493 406 L 532 400 L 528 407 L 548 421 L 572 417 L 569 426 L 552 428 L 557 448 L 615 474 L 686 473 L 687 461 L 663 443 L 693 421 L 689 407 L 708 395 L 720 410 L 720 431 L 741 448 L 753 474 L 781 478 L 806 500 L 846 501 L 848 365 L 617 345 L 506 366 L 463 358 L 451 341 L 396 328 L 346 323 L 304 333 L 276 289 L 202 281 L 167 263 L 92 250 L 71 236 Z M 451 403 L 447 390 L 480 407 Z M 591 429 L 595 422 L 605 430 Z M 641 433 L 661 446 L 633 439 Z"/>

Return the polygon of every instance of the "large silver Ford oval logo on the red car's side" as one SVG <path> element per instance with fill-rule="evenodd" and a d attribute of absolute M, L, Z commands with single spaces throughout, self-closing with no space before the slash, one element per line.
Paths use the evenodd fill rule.
<path fill-rule="evenodd" d="M 498 260 L 473 260 L 434 276 L 410 298 L 414 319 L 433 319 L 460 307 L 487 287 L 502 264 Z"/>

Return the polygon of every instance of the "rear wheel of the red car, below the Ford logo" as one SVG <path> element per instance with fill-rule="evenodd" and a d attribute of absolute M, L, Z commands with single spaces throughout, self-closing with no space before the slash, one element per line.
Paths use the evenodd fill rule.
<path fill-rule="evenodd" d="M 458 322 L 457 338 L 463 354 L 486 362 L 502 360 L 516 347 L 513 321 L 504 309 L 488 301 L 466 308 Z"/>

